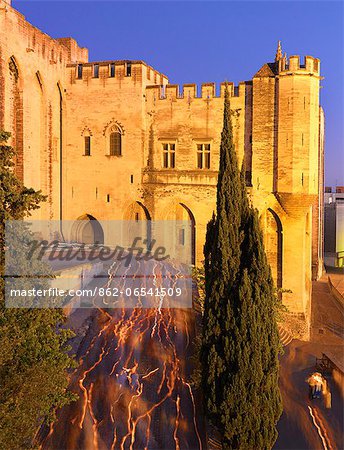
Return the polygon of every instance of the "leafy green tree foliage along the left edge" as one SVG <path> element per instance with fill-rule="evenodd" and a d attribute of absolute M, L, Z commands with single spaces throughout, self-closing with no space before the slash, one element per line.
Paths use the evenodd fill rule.
<path fill-rule="evenodd" d="M 24 219 L 45 200 L 15 175 L 9 137 L 0 131 L 0 448 L 18 450 L 31 448 L 40 424 L 51 421 L 55 409 L 74 398 L 67 391 L 73 359 L 67 346 L 72 334 L 61 328 L 65 320 L 61 310 L 5 305 L 5 223 Z M 24 224 L 23 233 L 30 237 Z M 27 264 L 20 250 L 16 264 Z"/>

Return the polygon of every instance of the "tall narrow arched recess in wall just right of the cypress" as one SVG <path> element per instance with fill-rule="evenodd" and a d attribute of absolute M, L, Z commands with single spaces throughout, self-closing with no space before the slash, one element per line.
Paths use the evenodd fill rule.
<path fill-rule="evenodd" d="M 283 229 L 277 213 L 271 208 L 266 213 L 265 250 L 277 289 L 283 285 Z"/>

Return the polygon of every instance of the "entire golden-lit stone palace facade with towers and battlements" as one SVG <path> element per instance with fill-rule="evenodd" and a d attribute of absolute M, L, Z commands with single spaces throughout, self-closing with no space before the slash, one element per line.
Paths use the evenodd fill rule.
<path fill-rule="evenodd" d="M 276 285 L 291 291 L 282 294 L 290 311 L 308 318 L 312 269 L 317 277 L 322 267 L 320 79 L 319 60 L 292 56 L 229 83 L 238 160 Z M 18 175 L 48 195 L 37 218 L 188 219 L 200 263 L 216 206 L 223 96 L 224 84 L 168 85 L 142 61 L 89 63 L 73 39 L 50 38 L 0 0 L 0 127 L 13 133 Z M 120 156 L 110 155 L 114 130 Z M 164 167 L 167 143 L 175 167 Z M 198 168 L 200 144 L 210 145 L 209 168 Z"/>

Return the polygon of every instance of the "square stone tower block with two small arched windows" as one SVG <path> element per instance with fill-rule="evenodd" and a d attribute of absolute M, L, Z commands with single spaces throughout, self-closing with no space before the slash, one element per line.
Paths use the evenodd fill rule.
<path fill-rule="evenodd" d="M 146 164 L 145 88 L 157 81 L 166 84 L 167 78 L 140 61 L 131 62 L 127 75 L 128 63 L 83 64 L 82 73 L 80 66 L 67 67 L 64 219 L 88 213 L 118 220 L 135 214 L 132 209 L 141 198 L 141 170 Z M 110 133 L 116 127 L 122 134 L 122 155 L 110 156 Z M 84 154 L 86 134 L 90 156 Z"/>

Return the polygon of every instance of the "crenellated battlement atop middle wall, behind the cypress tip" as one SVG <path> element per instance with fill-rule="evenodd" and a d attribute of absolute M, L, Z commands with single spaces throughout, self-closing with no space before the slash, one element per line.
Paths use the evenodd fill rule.
<path fill-rule="evenodd" d="M 246 82 L 241 81 L 238 86 L 234 83 L 221 83 L 220 90 L 217 92 L 216 83 L 202 83 L 201 86 L 196 84 L 167 84 L 147 86 L 147 97 L 166 100 L 166 99 L 211 99 L 224 98 L 226 84 L 230 97 L 244 97 Z"/>

